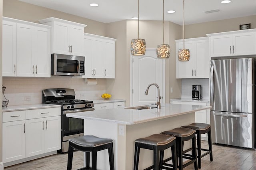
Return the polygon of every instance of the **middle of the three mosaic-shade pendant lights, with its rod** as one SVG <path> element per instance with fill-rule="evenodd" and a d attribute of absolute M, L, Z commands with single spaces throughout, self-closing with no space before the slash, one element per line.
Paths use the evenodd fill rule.
<path fill-rule="evenodd" d="M 170 57 L 170 45 L 164 44 L 164 0 L 163 0 L 163 44 L 157 45 L 156 56 L 160 59 L 167 59 Z"/>

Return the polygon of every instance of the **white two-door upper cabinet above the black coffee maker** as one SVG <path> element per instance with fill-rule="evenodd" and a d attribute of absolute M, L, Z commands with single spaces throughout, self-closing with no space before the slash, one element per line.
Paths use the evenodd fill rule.
<path fill-rule="evenodd" d="M 183 48 L 183 40 L 176 40 L 176 78 L 209 78 L 208 37 L 185 40 L 185 48 L 190 51 L 189 61 L 178 61 L 178 50 Z"/>

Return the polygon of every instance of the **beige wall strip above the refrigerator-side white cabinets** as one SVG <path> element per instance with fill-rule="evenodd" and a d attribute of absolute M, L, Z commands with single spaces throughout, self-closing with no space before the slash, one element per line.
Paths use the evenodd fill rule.
<path fill-rule="evenodd" d="M 251 23 L 251 29 L 256 28 L 256 15 L 185 25 L 185 38 L 205 37 L 206 34 L 236 31 L 239 30 L 239 25 L 249 23 Z"/>

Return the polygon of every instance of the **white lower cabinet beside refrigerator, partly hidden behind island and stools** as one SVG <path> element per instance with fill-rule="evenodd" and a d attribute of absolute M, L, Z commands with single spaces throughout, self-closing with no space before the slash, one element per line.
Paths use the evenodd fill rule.
<path fill-rule="evenodd" d="M 199 105 L 199 106 L 208 106 L 209 105 L 209 102 L 171 101 L 170 103 L 181 104 L 181 105 Z M 210 124 L 210 109 L 196 111 L 195 112 L 195 122 Z M 201 139 L 207 140 L 207 133 L 201 134 Z"/>

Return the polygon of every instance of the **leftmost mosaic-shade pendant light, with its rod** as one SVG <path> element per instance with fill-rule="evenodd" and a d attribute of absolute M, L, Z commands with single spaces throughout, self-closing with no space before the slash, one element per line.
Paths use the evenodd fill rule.
<path fill-rule="evenodd" d="M 133 39 L 131 42 L 131 54 L 132 55 L 145 55 L 146 41 L 139 38 L 139 0 L 138 0 L 138 38 Z"/>

